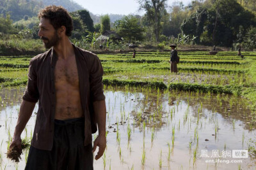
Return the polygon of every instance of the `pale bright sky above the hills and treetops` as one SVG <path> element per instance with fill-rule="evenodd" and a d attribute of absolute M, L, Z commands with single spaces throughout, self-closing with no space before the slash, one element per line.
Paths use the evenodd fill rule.
<path fill-rule="evenodd" d="M 83 6 L 86 10 L 93 14 L 143 14 L 143 11 L 138 11 L 139 4 L 136 0 L 73 0 L 77 4 Z M 168 0 L 168 5 L 171 5 L 175 0 Z M 185 5 L 188 5 L 191 0 L 183 0 Z"/>

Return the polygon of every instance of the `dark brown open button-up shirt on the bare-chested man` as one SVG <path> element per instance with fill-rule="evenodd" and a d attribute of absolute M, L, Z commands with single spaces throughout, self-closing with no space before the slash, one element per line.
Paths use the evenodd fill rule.
<path fill-rule="evenodd" d="M 74 46 L 74 45 L 73 45 Z M 102 75 L 99 58 L 74 46 L 81 106 L 84 113 L 84 145 L 92 143 L 92 133 L 97 131 L 93 114 L 93 101 L 104 100 Z M 56 94 L 54 69 L 58 56 L 51 50 L 36 55 L 29 62 L 28 86 L 22 97 L 24 101 L 38 103 L 36 124 L 31 145 L 42 150 L 51 150 L 53 144 Z M 72 96 L 70 96 L 72 97 Z"/>

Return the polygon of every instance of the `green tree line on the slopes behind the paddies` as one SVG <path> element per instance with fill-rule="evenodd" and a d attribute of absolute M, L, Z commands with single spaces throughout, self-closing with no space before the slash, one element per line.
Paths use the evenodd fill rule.
<path fill-rule="evenodd" d="M 15 1 L 23 1 L 26 4 L 29 0 L 11 0 L 10 3 L 8 2 L 9 6 Z M 6 2 L 6 0 L 1 1 L 1 3 Z M 200 0 L 192 1 L 188 6 L 184 6 L 182 2 L 168 5 L 166 0 L 137 0 L 137 2 L 140 4 L 140 9 L 145 10 L 145 15 L 127 15 L 114 23 L 110 22 L 109 15 L 103 15 L 100 24 L 93 24 L 88 11 L 71 12 L 70 15 L 74 20 L 72 39 L 79 41 L 93 32 L 95 32 L 94 36 L 99 36 L 106 30 L 112 30 L 129 43 L 171 42 L 234 48 L 243 45 L 248 50 L 256 48 L 256 0 Z M 36 6 L 39 8 L 40 4 Z M 0 32 L 15 34 L 15 32 L 30 31 L 32 37 L 36 38 L 38 23 L 30 25 L 29 28 L 19 22 L 12 24 L 12 15 L 8 13 L 3 15 L 3 9 L 1 13 Z M 31 20 L 35 13 L 26 13 L 26 15 L 28 17 L 23 18 L 23 21 Z"/>

